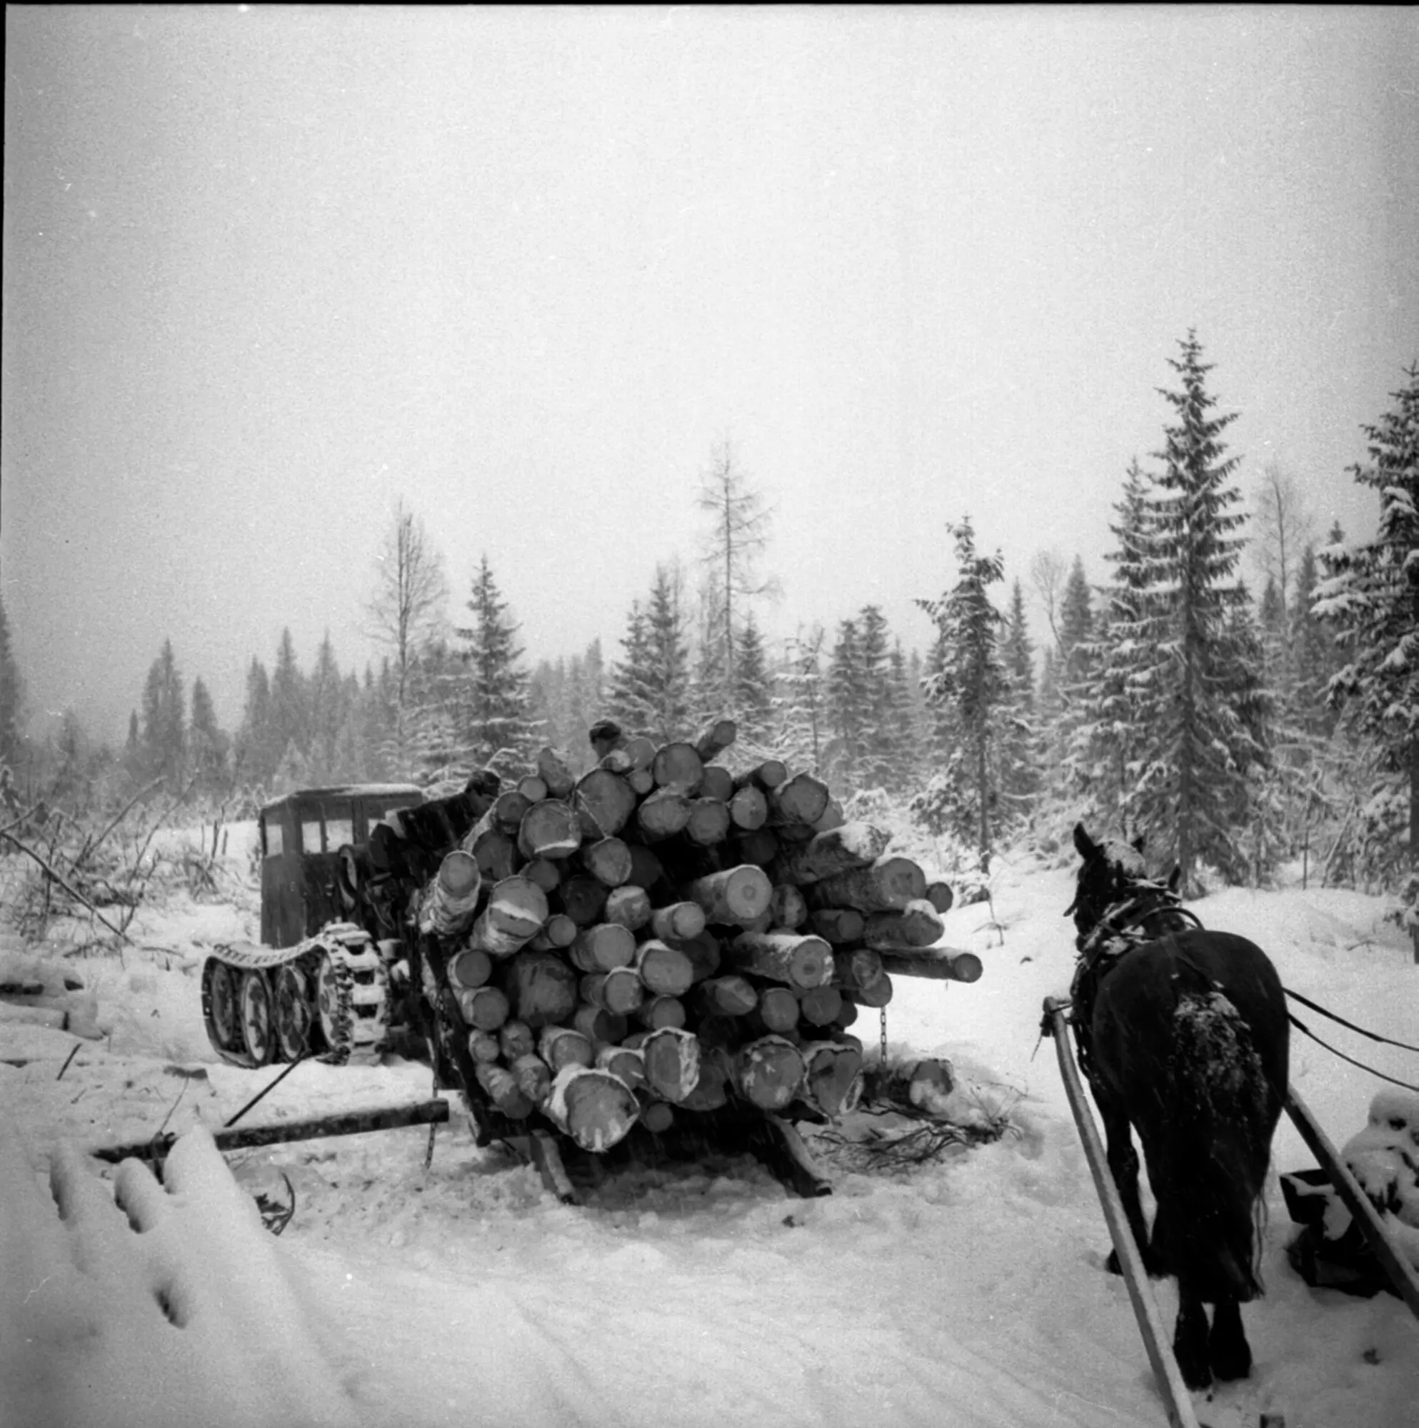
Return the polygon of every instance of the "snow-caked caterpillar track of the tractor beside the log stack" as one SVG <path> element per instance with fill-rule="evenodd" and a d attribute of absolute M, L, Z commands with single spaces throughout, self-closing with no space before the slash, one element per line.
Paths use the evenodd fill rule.
<path fill-rule="evenodd" d="M 390 958 L 354 922 L 330 922 L 294 947 L 220 945 L 203 964 L 203 1020 L 231 1065 L 310 1054 L 333 1065 L 377 1062 L 390 1038 Z"/>

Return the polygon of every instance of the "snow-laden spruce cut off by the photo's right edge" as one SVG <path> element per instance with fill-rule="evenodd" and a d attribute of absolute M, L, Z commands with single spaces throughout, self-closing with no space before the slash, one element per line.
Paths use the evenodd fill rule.
<path fill-rule="evenodd" d="M 1328 551 L 1332 574 L 1313 610 L 1333 621 L 1348 655 L 1330 680 L 1332 703 L 1376 741 L 1379 773 L 1408 785 L 1402 900 L 1419 961 L 1419 363 L 1405 376 L 1395 408 L 1365 427 L 1369 461 L 1350 467 L 1379 493 L 1375 538 Z"/>

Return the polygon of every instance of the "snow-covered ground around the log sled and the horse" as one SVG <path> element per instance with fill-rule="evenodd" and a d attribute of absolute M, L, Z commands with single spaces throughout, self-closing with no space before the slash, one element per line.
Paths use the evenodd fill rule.
<path fill-rule="evenodd" d="M 241 867 L 238 845 L 228 857 Z M 642 1170 L 584 1208 L 475 1150 L 457 1110 L 427 1171 L 424 1130 L 251 1151 L 230 1172 L 197 1130 L 166 1187 L 84 1158 L 164 1122 L 218 1127 L 273 1075 L 214 1061 L 201 1024 L 203 950 L 256 940 L 254 895 L 170 894 L 140 911 L 121 957 L 64 961 L 97 997 L 100 1040 L 0 1008 L 0 1422 L 1162 1424 L 1125 1287 L 1104 1271 L 1055 1050 L 1038 1045 L 1042 1001 L 1069 982 L 1072 892 L 1071 868 L 1006 860 L 994 921 L 988 904 L 946 915 L 946 941 L 979 952 L 985 977 L 898 978 L 888 1008 L 894 1054 L 949 1057 L 986 1102 L 1014 1107 L 1018 1134 L 909 1174 L 838 1171 L 822 1200 L 735 1160 Z M 1419 968 L 1379 900 L 1231 890 L 1195 910 L 1256 940 L 1295 991 L 1419 1040 Z M 1419 1058 L 1302 1020 L 1419 1077 Z M 875 1040 L 875 1020 L 857 1030 Z M 1302 1037 L 1292 1081 L 1336 1144 L 1380 1087 Z M 307 1064 L 248 1120 L 428 1094 L 415 1062 Z M 1283 1122 L 1275 1168 L 1311 1164 Z M 297 1200 L 276 1238 L 251 1197 L 281 1171 Z M 1308 1288 L 1285 1258 L 1295 1227 L 1275 1175 L 1268 1207 L 1268 1295 L 1245 1311 L 1256 1369 L 1198 1395 L 1199 1418 L 1419 1422 L 1419 1322 L 1390 1295 Z M 1172 1288 L 1155 1294 L 1171 1327 Z"/>

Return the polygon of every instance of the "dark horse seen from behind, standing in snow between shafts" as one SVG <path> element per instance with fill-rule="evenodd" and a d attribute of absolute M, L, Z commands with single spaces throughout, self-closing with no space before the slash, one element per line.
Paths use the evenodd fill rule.
<path fill-rule="evenodd" d="M 1099 844 L 1076 824 L 1074 843 L 1084 865 L 1065 910 L 1079 951 L 1071 1024 L 1109 1170 L 1149 1275 L 1178 1281 L 1183 1381 L 1246 1378 L 1241 1305 L 1263 1292 L 1262 1191 L 1288 1084 L 1281 978 L 1255 942 L 1208 931 L 1181 905 L 1176 870 L 1168 883 L 1146 875 L 1142 838 Z M 1131 1127 L 1158 1207 L 1152 1237 Z M 1109 1269 L 1119 1272 L 1116 1254 Z"/>

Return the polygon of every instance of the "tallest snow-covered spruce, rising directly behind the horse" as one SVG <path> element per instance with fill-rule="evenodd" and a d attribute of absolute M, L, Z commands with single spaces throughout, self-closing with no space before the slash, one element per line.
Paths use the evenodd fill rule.
<path fill-rule="evenodd" d="M 1175 860 L 1183 885 L 1199 890 L 1203 864 L 1241 881 L 1248 860 L 1239 835 L 1251 807 L 1248 781 L 1265 768 L 1271 698 L 1261 684 L 1258 651 L 1233 614 L 1248 601 L 1235 578 L 1246 520 L 1232 507 L 1239 464 L 1222 433 L 1235 413 L 1212 416 L 1216 398 L 1203 378 L 1195 331 L 1169 358 L 1181 390 L 1159 388 L 1175 420 L 1155 453 L 1152 581 L 1161 638 L 1142 651 L 1148 718 L 1142 724 L 1142 768 L 1125 798 L 1125 815 L 1155 853 Z M 1136 711 L 1135 711 L 1136 715 Z"/>

